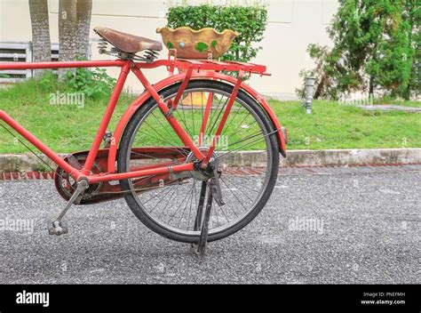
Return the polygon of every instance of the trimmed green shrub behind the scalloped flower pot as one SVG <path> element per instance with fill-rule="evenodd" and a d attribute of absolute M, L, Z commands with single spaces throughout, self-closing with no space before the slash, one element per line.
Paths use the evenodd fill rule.
<path fill-rule="evenodd" d="M 234 43 L 221 60 L 248 62 L 262 49 L 256 44 L 263 39 L 267 9 L 261 4 L 252 6 L 177 5 L 169 9 L 167 19 L 168 26 L 171 28 L 187 26 L 195 30 L 215 28 L 219 32 L 224 29 L 237 31 L 240 36 L 234 39 Z"/>

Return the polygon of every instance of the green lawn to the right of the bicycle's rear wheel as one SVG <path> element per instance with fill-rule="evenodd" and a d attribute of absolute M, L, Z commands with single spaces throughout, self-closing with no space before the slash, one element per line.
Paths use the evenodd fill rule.
<path fill-rule="evenodd" d="M 291 149 L 421 147 L 419 113 L 364 111 L 316 100 L 313 114 L 306 115 L 296 101 L 270 104 L 289 129 Z"/>

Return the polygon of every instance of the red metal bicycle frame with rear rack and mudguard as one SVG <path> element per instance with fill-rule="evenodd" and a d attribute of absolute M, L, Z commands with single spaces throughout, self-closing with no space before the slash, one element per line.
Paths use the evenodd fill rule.
<path fill-rule="evenodd" d="M 167 67 L 170 72 L 170 77 L 167 77 L 163 81 L 151 85 L 147 77 L 141 71 L 141 68 L 157 68 L 157 67 Z M 83 165 L 81 170 L 76 169 L 72 165 L 68 164 L 63 158 L 61 158 L 57 153 L 52 151 L 51 148 L 48 148 L 41 140 L 37 139 L 31 132 L 26 130 L 22 125 L 15 121 L 11 116 L 8 116 L 3 110 L 0 110 L 0 120 L 3 120 L 6 124 L 10 125 L 16 132 L 20 133 L 22 137 L 28 140 L 36 148 L 38 148 L 45 156 L 49 157 L 52 162 L 56 165 L 59 165 L 66 173 L 72 176 L 76 181 L 81 179 L 86 179 L 89 183 L 97 183 L 99 181 L 119 181 L 132 178 L 138 178 L 153 174 L 167 174 L 167 173 L 179 173 L 186 171 L 194 171 L 195 165 L 193 163 L 182 164 L 182 165 L 172 165 L 172 166 L 162 166 L 156 167 L 153 169 L 144 169 L 136 170 L 128 173 L 115 173 L 115 159 L 118 149 L 119 140 L 123 134 L 124 128 L 131 116 L 139 109 L 139 107 L 145 103 L 150 97 L 154 98 L 157 102 L 159 108 L 161 109 L 163 115 L 166 117 L 169 124 L 171 124 L 174 132 L 177 133 L 179 139 L 186 145 L 187 148 L 192 151 L 197 160 L 202 161 L 202 166 L 205 167 L 211 158 L 212 152 L 218 143 L 218 136 L 224 128 L 226 123 L 226 117 L 229 114 L 231 106 L 234 104 L 234 100 L 238 92 L 243 89 L 248 92 L 251 96 L 258 99 L 259 103 L 266 110 L 268 116 L 273 120 L 274 127 L 277 130 L 278 141 L 280 144 L 280 152 L 282 155 L 285 154 L 285 139 L 282 135 L 282 130 L 280 124 L 277 122 L 274 112 L 269 108 L 266 101 L 263 100 L 257 92 L 253 91 L 249 86 L 242 84 L 242 77 L 245 72 L 257 73 L 260 75 L 266 75 L 266 67 L 258 66 L 250 63 L 241 63 L 241 62 L 220 62 L 212 60 L 204 61 L 195 61 L 195 60 L 177 60 L 175 56 L 171 60 L 171 52 L 168 60 L 156 60 L 152 63 L 144 62 L 134 62 L 133 60 L 80 60 L 80 61 L 61 61 L 61 62 L 34 62 L 34 63 L 0 63 L 0 70 L 8 69 L 46 69 L 46 68 L 121 68 L 120 75 L 115 84 L 115 90 L 112 92 L 111 97 L 108 101 L 106 111 L 102 118 L 101 123 L 99 124 L 98 132 L 91 144 L 91 149 L 89 151 L 86 162 Z M 184 74 L 174 75 L 174 68 L 185 69 L 187 72 Z M 239 76 L 235 79 L 232 76 L 226 76 L 220 74 L 222 70 L 228 71 L 237 71 Z M 95 158 L 98 155 L 101 142 L 104 138 L 105 133 L 107 132 L 108 124 L 111 120 L 111 116 L 114 113 L 115 106 L 121 92 L 123 91 L 123 86 L 126 81 L 127 76 L 130 72 L 133 72 L 135 76 L 138 77 L 141 84 L 146 89 L 146 92 L 143 92 L 139 97 L 134 100 L 131 106 L 123 114 L 120 122 L 115 128 L 114 136 L 111 140 L 110 148 L 108 151 L 108 160 L 107 160 L 107 173 L 91 174 L 91 169 L 94 164 Z M 195 73 L 194 73 L 195 72 Z M 196 78 L 206 78 L 206 79 L 219 79 L 225 80 L 230 84 L 234 84 L 234 90 L 231 94 L 227 108 L 224 113 L 223 118 L 218 126 L 215 138 L 210 148 L 210 153 L 207 153 L 206 156 L 203 155 L 201 150 L 195 145 L 195 142 L 188 136 L 187 132 L 179 124 L 179 121 L 172 116 L 172 110 L 177 108 L 178 102 L 187 87 L 190 79 Z M 182 82 L 179 88 L 179 92 L 171 104 L 171 107 L 167 107 L 163 99 L 160 97 L 159 93 L 163 88 Z M 211 103 L 208 103 L 207 109 L 211 108 Z M 203 119 L 202 132 L 206 126 L 206 118 Z M 203 127 L 204 126 L 204 127 Z M 200 135 L 203 133 L 201 132 Z M 201 138 L 201 136 L 199 136 Z"/>

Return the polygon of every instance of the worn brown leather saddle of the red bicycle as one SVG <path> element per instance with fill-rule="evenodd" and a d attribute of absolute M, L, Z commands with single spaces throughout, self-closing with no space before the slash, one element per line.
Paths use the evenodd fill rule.
<path fill-rule="evenodd" d="M 163 44 L 155 40 L 126 34 L 121 31 L 105 27 L 97 27 L 93 28 L 93 30 L 108 43 L 114 45 L 115 48 L 122 52 L 136 53 L 144 50 L 163 50 Z"/>

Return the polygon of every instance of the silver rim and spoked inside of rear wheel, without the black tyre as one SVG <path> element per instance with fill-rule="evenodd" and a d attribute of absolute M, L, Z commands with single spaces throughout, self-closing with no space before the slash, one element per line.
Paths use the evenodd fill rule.
<path fill-rule="evenodd" d="M 208 123 L 206 128 L 206 134 L 208 135 L 216 131 L 218 121 L 223 114 L 223 109 L 226 108 L 226 102 L 230 96 L 228 92 L 213 88 L 191 88 L 184 93 L 179 109 L 174 112 L 174 115 L 195 142 L 199 140 L 198 133 L 202 121 L 200 117 L 203 117 L 206 103 L 202 103 L 196 108 L 193 106 L 188 108 L 183 101 L 188 100 L 189 95 L 192 95 L 191 98 L 194 98 L 193 93 L 199 92 L 202 94 L 202 102 L 209 99 L 211 93 L 214 95 L 213 109 L 209 116 L 210 123 Z M 203 94 L 205 97 L 203 97 Z M 174 99 L 174 97 L 175 94 L 171 94 L 163 97 L 163 100 L 167 103 L 168 100 Z M 256 136 L 255 133 L 252 133 L 254 129 L 257 129 L 260 135 Z M 172 144 L 169 149 L 180 150 L 182 144 L 176 137 L 175 132 L 171 130 L 171 126 L 165 121 L 157 104 L 155 104 L 142 116 L 135 131 L 132 133 L 129 151 L 131 151 L 133 146 L 137 147 L 136 143 L 138 142 L 143 143 L 142 146 L 145 146 L 145 143 L 155 143 L 155 145 L 159 143 L 168 147 L 171 144 L 171 140 L 178 142 L 178 144 Z M 207 139 L 206 136 L 203 138 L 205 147 L 209 146 L 211 139 L 211 137 Z M 234 225 L 241 222 L 254 211 L 267 189 L 272 171 L 272 155 L 274 153 L 264 122 L 250 108 L 249 104 L 239 98 L 234 102 L 233 109 L 226 121 L 226 127 L 221 133 L 219 140 L 224 141 L 218 145 L 215 153 L 220 162 L 219 170 L 222 172 L 220 184 L 226 205 L 218 206 L 215 200 L 213 201 L 209 227 L 210 236 L 234 227 Z M 253 146 L 261 148 L 262 143 L 264 143 L 265 148 L 258 149 L 260 151 L 258 153 L 258 161 L 260 164 L 265 164 L 265 166 L 260 166 L 264 170 L 254 167 L 250 173 L 250 169 L 242 166 L 243 164 L 233 166 L 238 163 L 232 160 L 233 157 L 235 158 L 234 152 L 236 150 L 250 150 Z M 188 156 L 186 155 L 186 157 Z M 148 160 L 148 163 L 152 163 L 151 161 Z M 163 161 L 160 160 L 157 163 L 160 162 Z M 131 165 L 129 153 L 126 157 L 126 165 Z M 201 182 L 192 178 L 184 180 L 183 184 L 163 185 L 159 189 L 151 190 L 146 194 L 139 195 L 137 192 L 132 191 L 132 196 L 139 208 L 147 214 L 147 217 L 163 229 L 179 235 L 198 236 L 200 231 L 194 230 L 194 224 Z M 134 189 L 132 180 L 129 180 L 129 186 L 131 189 Z M 209 189 L 206 196 L 208 195 Z"/>

